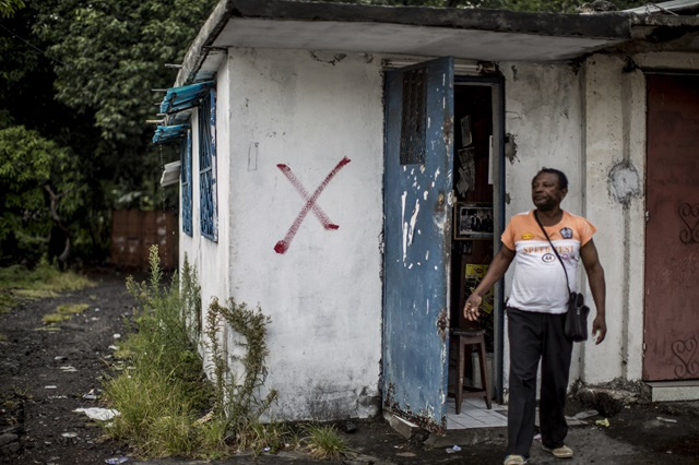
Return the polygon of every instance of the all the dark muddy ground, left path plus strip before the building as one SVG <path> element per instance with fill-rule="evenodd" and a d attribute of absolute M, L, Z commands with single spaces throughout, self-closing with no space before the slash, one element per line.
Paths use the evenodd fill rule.
<path fill-rule="evenodd" d="M 93 271 L 93 288 L 23 303 L 0 315 L 0 463 L 104 464 L 132 456 L 128 444 L 105 439 L 102 429 L 79 407 L 98 407 L 100 382 L 109 373 L 116 335 L 127 332 L 125 320 L 133 299 L 126 291 L 126 275 Z M 61 303 L 87 303 L 82 314 L 46 331 L 45 314 Z M 92 398 L 97 394 L 97 398 Z M 569 413 L 585 406 L 571 402 Z M 571 428 L 568 443 L 576 457 L 564 463 L 699 464 L 699 403 L 632 405 L 600 427 Z M 346 429 L 347 422 L 340 422 Z M 499 464 L 505 450 L 503 429 L 477 429 L 411 440 L 382 419 L 352 421 L 355 431 L 342 432 L 356 454 L 334 463 L 374 464 Z M 448 452 L 460 445 L 458 452 Z M 534 444 L 530 463 L 554 463 Z M 560 461 L 558 461 L 560 462 Z M 203 463 L 185 458 L 153 464 Z M 279 455 L 240 455 L 215 464 L 318 463 L 299 452 Z M 321 462 L 322 463 L 322 462 Z M 329 462 L 324 462 L 329 463 Z"/>

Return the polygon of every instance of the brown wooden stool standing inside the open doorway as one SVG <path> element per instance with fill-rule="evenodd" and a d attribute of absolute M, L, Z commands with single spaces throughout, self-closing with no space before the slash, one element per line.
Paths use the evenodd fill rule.
<path fill-rule="evenodd" d="M 451 336 L 459 344 L 459 369 L 457 373 L 457 415 L 461 414 L 461 403 L 464 397 L 483 397 L 485 398 L 485 405 L 488 409 L 493 408 L 490 404 L 490 381 L 488 380 L 488 367 L 485 358 L 485 330 L 467 330 L 457 329 L 451 330 Z M 466 356 L 471 356 L 471 353 L 466 354 L 466 346 L 476 346 L 478 353 L 478 366 L 481 367 L 481 386 L 465 388 L 463 386 L 463 371 L 464 363 L 466 362 Z"/>

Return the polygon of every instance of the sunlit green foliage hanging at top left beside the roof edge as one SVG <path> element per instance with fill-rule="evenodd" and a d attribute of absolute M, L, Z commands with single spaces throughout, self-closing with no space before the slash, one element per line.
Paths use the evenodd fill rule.
<path fill-rule="evenodd" d="M 94 110 L 102 136 L 116 146 L 140 145 L 152 135 L 144 122 L 159 97 L 152 88 L 171 84 L 175 73 L 165 63 L 181 62 L 213 1 L 44 1 L 35 29 L 54 37 L 57 98 Z"/>

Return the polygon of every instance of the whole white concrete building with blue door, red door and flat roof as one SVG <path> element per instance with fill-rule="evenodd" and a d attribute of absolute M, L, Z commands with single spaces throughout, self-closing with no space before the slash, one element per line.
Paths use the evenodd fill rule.
<path fill-rule="evenodd" d="M 577 344 L 571 378 L 697 398 L 697 3 L 562 15 L 222 0 L 158 131 L 191 134 L 180 265 L 197 269 L 204 313 L 234 297 L 271 317 L 271 415 L 384 408 L 445 427 L 448 330 L 544 166 L 570 179 L 564 208 L 599 227 L 607 277 L 607 341 Z M 482 322 L 498 400 L 510 278 Z"/>

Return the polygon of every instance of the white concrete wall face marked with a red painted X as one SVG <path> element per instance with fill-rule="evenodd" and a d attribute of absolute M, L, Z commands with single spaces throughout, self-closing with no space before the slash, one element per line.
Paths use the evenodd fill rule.
<path fill-rule="evenodd" d="M 223 266 L 208 263 L 218 275 L 202 279 L 206 296 L 259 305 L 271 317 L 265 388 L 280 393 L 272 416 L 371 415 L 381 358 L 380 60 L 232 49 L 226 70 L 230 94 L 220 102 L 228 106 L 229 146 L 220 152 L 220 189 L 229 203 L 220 212 L 229 216 L 222 216 L 217 253 L 230 261 L 209 257 Z M 351 162 L 317 203 L 339 229 L 324 229 L 308 212 L 277 253 L 305 205 L 277 164 L 311 194 L 343 157 Z M 226 274 L 229 287 L 218 285 Z"/>

